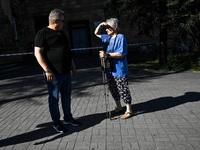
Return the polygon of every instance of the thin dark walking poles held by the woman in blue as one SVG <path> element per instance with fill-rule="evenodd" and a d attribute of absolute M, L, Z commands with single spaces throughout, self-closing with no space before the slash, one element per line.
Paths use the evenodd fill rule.
<path fill-rule="evenodd" d="M 106 66 L 105 66 L 105 58 L 101 58 L 101 69 L 102 69 L 102 78 L 103 78 L 103 85 L 104 85 L 104 97 L 106 103 L 106 116 L 111 120 L 111 111 L 109 105 L 109 95 L 108 95 L 108 79 L 106 75 Z"/>

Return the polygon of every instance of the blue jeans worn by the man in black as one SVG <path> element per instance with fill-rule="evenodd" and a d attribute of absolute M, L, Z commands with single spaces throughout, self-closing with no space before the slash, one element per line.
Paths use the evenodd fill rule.
<path fill-rule="evenodd" d="M 59 111 L 59 93 L 61 95 L 62 109 L 64 113 L 64 120 L 73 120 L 71 114 L 71 74 L 54 74 L 55 79 L 53 82 L 48 82 L 46 75 L 44 77 L 47 82 L 48 92 L 49 92 L 49 110 L 51 118 L 54 122 L 60 120 Z"/>

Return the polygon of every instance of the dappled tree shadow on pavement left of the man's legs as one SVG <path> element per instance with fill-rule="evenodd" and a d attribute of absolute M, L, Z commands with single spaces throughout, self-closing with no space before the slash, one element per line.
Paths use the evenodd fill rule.
<path fill-rule="evenodd" d="M 35 104 L 40 105 L 41 102 L 35 100 L 35 98 L 48 94 L 42 75 L 12 78 L 7 81 L 2 80 L 0 83 L 0 89 L 0 107 L 4 104 L 15 101 L 34 101 Z"/>

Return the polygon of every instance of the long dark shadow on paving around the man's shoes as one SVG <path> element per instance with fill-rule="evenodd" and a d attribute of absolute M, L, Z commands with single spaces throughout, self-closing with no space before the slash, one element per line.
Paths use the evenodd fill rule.
<path fill-rule="evenodd" d="M 19 134 L 13 137 L 0 140 L 0 147 L 20 144 L 20 143 L 25 143 L 25 142 L 32 142 L 39 139 L 42 139 L 42 141 L 40 142 L 36 141 L 34 145 L 48 143 L 56 139 L 62 138 L 64 136 L 70 135 L 74 132 L 80 132 L 85 129 L 91 128 L 101 123 L 101 121 L 103 121 L 104 119 L 106 119 L 106 113 L 91 114 L 91 115 L 80 117 L 77 120 L 80 121 L 82 124 L 79 127 L 68 126 L 68 131 L 67 133 L 64 133 L 64 134 L 57 133 L 52 127 L 53 125 L 52 122 L 39 124 L 36 126 L 36 130 L 34 131 L 30 131 L 27 133 Z M 53 136 L 53 137 L 49 138 L 49 136 Z M 46 139 L 44 140 L 44 138 Z"/>

